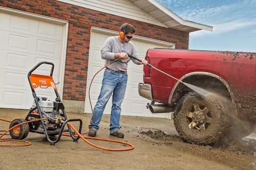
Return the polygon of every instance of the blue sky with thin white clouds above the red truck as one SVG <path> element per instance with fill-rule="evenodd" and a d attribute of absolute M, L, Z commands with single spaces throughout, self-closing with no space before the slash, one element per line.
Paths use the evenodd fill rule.
<path fill-rule="evenodd" d="M 189 49 L 256 52 L 256 0 L 157 0 L 183 20 L 213 26 L 190 33 Z"/>

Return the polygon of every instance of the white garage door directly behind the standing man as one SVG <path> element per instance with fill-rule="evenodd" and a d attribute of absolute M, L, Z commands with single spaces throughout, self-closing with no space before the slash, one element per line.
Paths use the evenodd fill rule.
<path fill-rule="evenodd" d="M 89 86 L 92 77 L 104 67 L 104 60 L 101 59 L 100 50 L 103 47 L 105 40 L 112 35 L 117 35 L 118 32 L 108 32 L 97 28 L 92 28 L 90 39 L 90 51 L 89 51 L 89 65 L 88 65 L 88 78 L 87 78 L 87 93 L 85 113 L 92 113 L 89 102 Z M 148 38 L 136 37 L 132 39 L 135 48 L 140 58 L 146 56 L 146 52 L 149 48 L 174 48 L 175 45 L 163 41 L 156 41 Z M 104 70 L 101 70 L 99 74 L 93 79 L 90 88 L 90 99 L 92 108 L 97 102 L 98 95 L 101 88 L 101 81 L 103 79 Z M 136 65 L 132 61 L 129 62 L 127 67 L 128 82 L 126 87 L 126 93 L 124 101 L 122 103 L 122 115 L 131 115 L 138 117 L 158 117 L 158 118 L 170 118 L 170 113 L 157 113 L 152 114 L 149 109 L 146 108 L 147 103 L 151 101 L 144 99 L 138 93 L 138 84 L 143 82 L 143 65 Z M 104 114 L 110 114 L 112 107 L 112 99 L 109 100 Z"/>

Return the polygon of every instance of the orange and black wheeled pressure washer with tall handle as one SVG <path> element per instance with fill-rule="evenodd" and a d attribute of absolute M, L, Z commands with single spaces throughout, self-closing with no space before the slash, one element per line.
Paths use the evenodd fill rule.
<path fill-rule="evenodd" d="M 39 75 L 32 74 L 39 66 L 47 64 L 51 65 L 52 69 L 50 70 L 50 75 Z M 33 67 L 28 73 L 28 80 L 32 90 L 33 95 L 33 104 L 30 108 L 29 113 L 25 119 L 14 119 L 10 128 L 16 126 L 10 131 L 10 135 L 13 139 L 24 139 L 28 136 L 29 132 L 45 134 L 47 140 L 50 142 L 50 145 L 55 145 L 56 142 L 62 136 L 63 132 L 70 132 L 70 136 L 73 141 L 78 141 L 79 136 L 72 131 L 71 127 L 67 124 L 67 129 L 64 129 L 67 122 L 78 121 L 80 123 L 79 133 L 82 130 L 82 120 L 81 119 L 67 119 L 64 105 L 61 101 L 61 97 L 58 94 L 56 84 L 53 80 L 53 70 L 54 64 L 52 62 L 42 61 L 39 62 L 35 67 Z M 48 88 L 52 87 L 55 94 L 55 101 L 50 101 L 46 97 L 37 96 L 35 88 Z M 35 120 L 35 121 L 33 121 Z M 37 121 L 38 120 L 38 121 Z M 56 140 L 50 139 L 50 137 L 58 136 Z M 77 137 L 75 137 L 77 136 Z"/>

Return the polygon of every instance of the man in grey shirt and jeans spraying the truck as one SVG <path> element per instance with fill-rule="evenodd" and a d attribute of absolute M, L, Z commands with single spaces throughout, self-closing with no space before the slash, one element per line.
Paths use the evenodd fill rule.
<path fill-rule="evenodd" d="M 99 123 L 103 115 L 105 106 L 112 95 L 112 110 L 110 115 L 110 135 L 123 138 L 124 134 L 120 132 L 121 103 L 124 99 L 127 84 L 127 63 L 132 56 L 138 57 L 134 44 L 130 41 L 135 32 L 133 25 L 125 23 L 120 27 L 119 36 L 107 38 L 101 49 L 101 58 L 105 59 L 105 66 L 115 59 L 119 58 L 121 62 L 114 62 L 106 67 L 104 71 L 103 82 L 98 97 L 98 101 L 92 112 L 89 125 L 88 136 L 94 137 L 99 129 Z M 142 62 L 131 59 L 135 64 L 147 65 L 148 61 L 142 59 Z"/>

